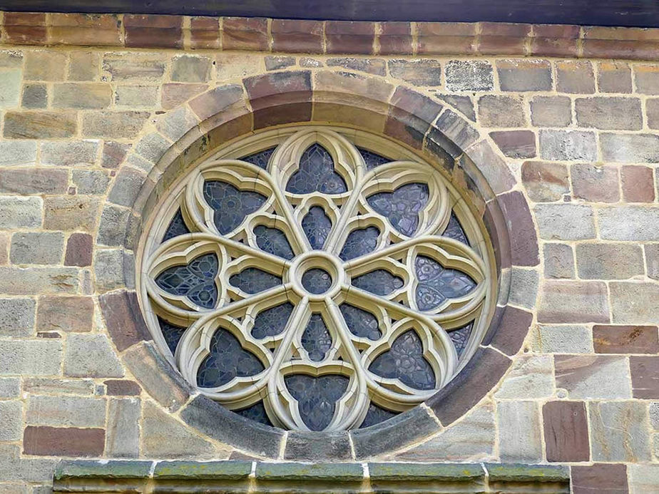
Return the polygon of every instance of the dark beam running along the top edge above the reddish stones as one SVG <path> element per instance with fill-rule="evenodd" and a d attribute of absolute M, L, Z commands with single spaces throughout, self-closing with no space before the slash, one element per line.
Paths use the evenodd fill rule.
<path fill-rule="evenodd" d="M 659 0 L 0 0 L 0 10 L 659 27 Z"/>

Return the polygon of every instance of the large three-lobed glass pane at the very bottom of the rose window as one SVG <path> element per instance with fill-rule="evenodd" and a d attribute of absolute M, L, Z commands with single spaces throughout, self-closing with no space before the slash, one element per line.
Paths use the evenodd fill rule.
<path fill-rule="evenodd" d="M 338 374 L 320 377 L 293 374 L 286 376 L 284 381 L 289 393 L 297 400 L 302 421 L 312 431 L 322 431 L 332 421 L 337 401 L 348 388 L 349 379 Z"/>

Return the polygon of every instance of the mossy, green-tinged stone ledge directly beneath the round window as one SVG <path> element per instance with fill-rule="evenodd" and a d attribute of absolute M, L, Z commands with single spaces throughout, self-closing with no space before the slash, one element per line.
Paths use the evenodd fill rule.
<path fill-rule="evenodd" d="M 54 493 L 570 492 L 568 467 L 505 463 L 265 463 L 61 460 Z"/>

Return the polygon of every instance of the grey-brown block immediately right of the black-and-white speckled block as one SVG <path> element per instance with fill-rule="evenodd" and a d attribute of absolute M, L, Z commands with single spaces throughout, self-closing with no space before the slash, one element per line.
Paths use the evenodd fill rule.
<path fill-rule="evenodd" d="M 496 71 L 501 91 L 551 90 L 551 64 L 546 60 L 499 60 Z"/>

